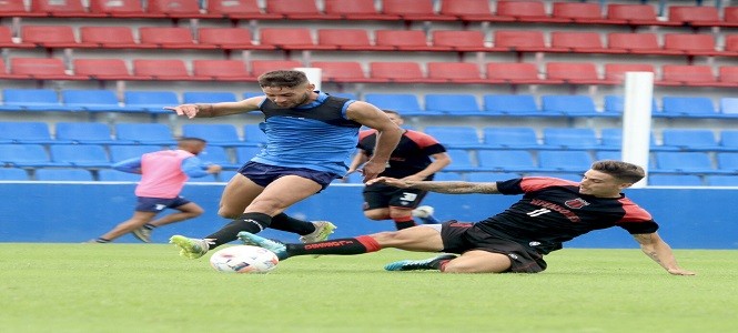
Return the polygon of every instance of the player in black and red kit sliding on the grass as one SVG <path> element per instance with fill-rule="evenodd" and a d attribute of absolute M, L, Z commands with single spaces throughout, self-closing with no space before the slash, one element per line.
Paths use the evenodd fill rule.
<path fill-rule="evenodd" d="M 564 242 L 594 230 L 619 226 L 630 233 L 643 252 L 674 275 L 694 275 L 681 269 L 671 248 L 658 235 L 658 224 L 621 193 L 645 176 L 643 168 L 620 161 L 597 161 L 582 182 L 530 176 L 507 181 L 427 182 L 378 178 L 401 189 L 448 194 L 523 194 L 506 211 L 476 223 L 455 220 L 422 224 L 395 232 L 312 244 L 282 244 L 243 232 L 241 240 L 265 248 L 284 260 L 295 255 L 362 254 L 396 248 L 445 252 L 427 260 L 390 263 L 387 271 L 438 270 L 445 273 L 537 273 L 546 269 L 544 255 Z M 484 209 L 484 208 L 479 208 Z"/>

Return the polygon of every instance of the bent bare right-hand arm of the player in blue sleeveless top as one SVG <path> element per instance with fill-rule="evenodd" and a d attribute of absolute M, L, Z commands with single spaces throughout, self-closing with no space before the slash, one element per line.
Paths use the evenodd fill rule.
<path fill-rule="evenodd" d="M 402 138 L 402 130 L 386 113 L 366 102 L 351 103 L 346 109 L 346 118 L 377 131 L 374 153 L 364 164 L 364 182 L 366 182 L 384 171 L 390 155 Z"/>

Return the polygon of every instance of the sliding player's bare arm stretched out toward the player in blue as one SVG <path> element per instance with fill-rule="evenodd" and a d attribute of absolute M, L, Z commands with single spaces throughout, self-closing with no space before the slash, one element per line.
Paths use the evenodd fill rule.
<path fill-rule="evenodd" d="M 484 194 L 497 194 L 497 183 L 486 182 L 486 183 L 471 183 L 471 182 L 435 182 L 435 181 L 413 181 L 413 180 L 400 180 L 390 176 L 381 176 L 375 180 L 367 182 L 366 184 L 373 183 L 385 183 L 391 186 L 401 188 L 401 189 L 418 189 L 424 191 L 431 191 L 436 193 L 446 193 L 446 194 L 469 194 L 469 193 L 484 193 Z"/>

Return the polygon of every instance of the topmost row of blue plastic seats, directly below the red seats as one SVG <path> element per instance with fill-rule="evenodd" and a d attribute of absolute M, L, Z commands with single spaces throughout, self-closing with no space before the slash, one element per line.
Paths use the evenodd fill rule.
<path fill-rule="evenodd" d="M 119 100 L 109 90 L 4 89 L 0 111 L 84 111 L 170 113 L 163 107 L 180 103 L 229 102 L 259 95 L 245 92 L 125 91 Z M 348 98 L 351 93 L 338 94 Z M 364 100 L 381 109 L 392 109 L 405 115 L 494 115 L 494 117 L 620 117 L 623 97 L 606 95 L 604 109 L 597 110 L 589 95 L 542 95 L 540 103 L 532 94 L 486 94 L 479 104 L 473 94 L 428 93 L 424 107 L 416 94 L 367 93 Z M 665 118 L 736 118 L 738 98 L 720 99 L 719 108 L 709 98 L 664 97 L 659 109 L 654 100 L 654 117 Z M 539 105 L 540 104 L 540 105 Z"/>

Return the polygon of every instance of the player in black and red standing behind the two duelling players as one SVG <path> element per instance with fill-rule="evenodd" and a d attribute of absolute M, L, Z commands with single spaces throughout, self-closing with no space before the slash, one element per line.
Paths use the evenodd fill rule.
<path fill-rule="evenodd" d="M 390 119 L 398 127 L 404 120 L 400 113 L 383 110 Z M 358 133 L 358 145 L 348 172 L 361 171 L 361 165 L 372 158 L 376 144 L 376 130 L 367 130 Z M 451 158 L 446 149 L 438 141 L 423 132 L 403 129 L 397 148 L 390 157 L 390 163 L 380 176 L 391 176 L 408 181 L 433 180 L 433 175 L 446 168 Z M 418 206 L 427 191 L 418 189 L 398 189 L 383 183 L 365 185 L 364 215 L 371 220 L 392 219 L 397 230 L 416 225 L 413 220 L 413 210 Z M 433 210 L 423 206 L 424 210 Z M 431 214 L 428 214 L 432 216 Z"/>

